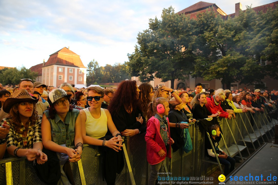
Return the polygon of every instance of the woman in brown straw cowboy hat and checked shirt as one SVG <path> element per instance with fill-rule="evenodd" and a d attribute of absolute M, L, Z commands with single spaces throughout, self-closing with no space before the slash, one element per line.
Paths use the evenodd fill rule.
<path fill-rule="evenodd" d="M 38 100 L 33 99 L 25 89 L 17 90 L 3 105 L 4 111 L 9 114 L 1 121 L 1 126 L 10 127 L 5 138 L 8 154 L 26 157 L 29 161 L 36 159 L 38 164 L 44 164 L 47 156 L 42 152 L 41 116 L 38 117 L 35 111 Z"/>

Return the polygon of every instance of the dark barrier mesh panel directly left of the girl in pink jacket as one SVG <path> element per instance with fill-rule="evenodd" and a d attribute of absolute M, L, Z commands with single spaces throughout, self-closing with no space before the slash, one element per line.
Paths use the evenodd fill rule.
<path fill-rule="evenodd" d="M 147 184 L 147 151 L 145 134 L 129 138 L 129 161 L 136 184 Z"/>

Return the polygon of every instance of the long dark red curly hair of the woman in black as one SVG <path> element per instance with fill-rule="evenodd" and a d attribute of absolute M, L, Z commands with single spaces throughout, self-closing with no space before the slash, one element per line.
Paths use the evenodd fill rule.
<path fill-rule="evenodd" d="M 122 81 L 108 106 L 111 115 L 116 115 L 122 107 L 127 110 L 131 110 L 132 108 L 132 111 L 136 111 L 137 109 L 141 110 L 137 94 L 135 80 Z"/>

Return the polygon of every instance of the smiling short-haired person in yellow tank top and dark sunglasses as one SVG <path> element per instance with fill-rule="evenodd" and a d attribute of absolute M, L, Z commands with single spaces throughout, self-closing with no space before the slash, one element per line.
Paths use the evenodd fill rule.
<path fill-rule="evenodd" d="M 105 157 L 103 161 L 106 183 L 115 184 L 116 173 L 120 173 L 124 165 L 123 154 L 119 152 L 123 146 L 123 140 L 112 121 L 110 112 L 101 108 L 103 89 L 89 87 L 87 91 L 90 107 L 80 110 L 83 141 L 88 145 L 102 146 L 101 151 Z M 112 136 L 106 135 L 107 130 Z"/>

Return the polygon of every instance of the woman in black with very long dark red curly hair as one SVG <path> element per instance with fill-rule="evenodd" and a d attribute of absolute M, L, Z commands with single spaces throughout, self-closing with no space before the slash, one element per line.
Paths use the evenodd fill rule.
<path fill-rule="evenodd" d="M 112 120 L 123 136 L 138 135 L 147 129 L 139 101 L 139 92 L 135 80 L 123 81 L 108 106 Z"/>

